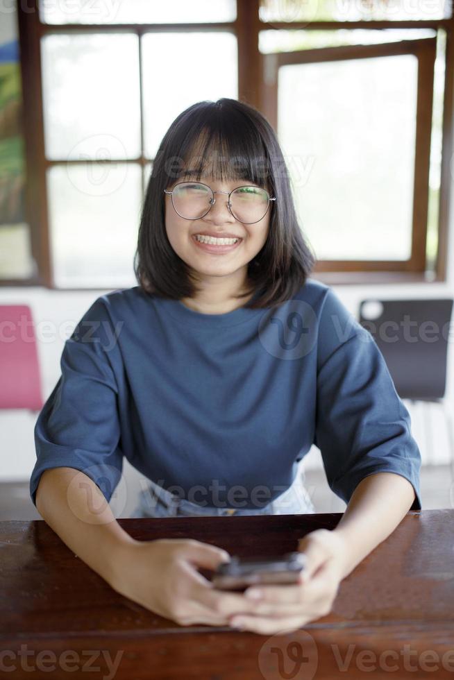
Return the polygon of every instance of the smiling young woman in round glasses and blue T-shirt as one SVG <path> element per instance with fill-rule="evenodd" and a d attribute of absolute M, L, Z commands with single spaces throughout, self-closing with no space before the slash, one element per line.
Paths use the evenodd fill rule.
<path fill-rule="evenodd" d="M 155 159 L 139 285 L 99 297 L 65 343 L 31 498 L 112 588 L 180 624 L 299 628 L 421 508 L 420 454 L 385 361 L 312 265 L 274 130 L 245 103 L 203 101 Z M 297 586 L 216 590 L 196 566 L 215 569 L 224 550 L 135 541 L 106 502 L 126 457 L 149 480 L 137 516 L 312 511 L 295 475 L 313 443 L 348 506 L 336 529 L 301 539 Z"/>

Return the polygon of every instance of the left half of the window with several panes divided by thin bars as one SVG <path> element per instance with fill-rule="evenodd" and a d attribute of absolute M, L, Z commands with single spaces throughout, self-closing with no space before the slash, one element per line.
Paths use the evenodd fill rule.
<path fill-rule="evenodd" d="M 175 6 L 114 4 L 107 16 L 105 3 L 47 2 L 22 17 L 40 62 L 47 282 L 57 288 L 135 284 L 140 209 L 162 135 L 191 103 L 238 96 L 233 0 L 199 0 L 190 12 L 180 2 L 180 16 L 199 22 L 184 32 L 156 26 L 174 21 Z M 201 65 L 190 78 L 188 54 Z"/>

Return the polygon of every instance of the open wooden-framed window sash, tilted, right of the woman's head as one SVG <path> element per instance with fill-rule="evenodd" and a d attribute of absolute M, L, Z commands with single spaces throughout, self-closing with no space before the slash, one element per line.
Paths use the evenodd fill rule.
<path fill-rule="evenodd" d="M 265 57 L 319 271 L 425 271 L 435 51 L 425 37 Z"/>

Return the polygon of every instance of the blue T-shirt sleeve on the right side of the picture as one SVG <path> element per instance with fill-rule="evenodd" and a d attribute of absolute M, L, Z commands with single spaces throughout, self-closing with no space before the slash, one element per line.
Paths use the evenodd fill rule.
<path fill-rule="evenodd" d="M 410 414 L 371 334 L 328 289 L 319 322 L 314 444 L 328 484 L 348 503 L 368 475 L 396 473 L 413 486 L 421 509 L 421 454 Z"/>

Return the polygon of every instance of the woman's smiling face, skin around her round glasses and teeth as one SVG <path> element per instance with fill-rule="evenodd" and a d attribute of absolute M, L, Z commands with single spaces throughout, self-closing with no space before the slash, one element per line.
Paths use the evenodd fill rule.
<path fill-rule="evenodd" d="M 180 176 L 169 187 L 171 191 L 178 182 L 187 181 L 189 176 Z M 202 175 L 200 181 L 214 192 L 230 192 L 244 185 L 259 186 L 250 180 L 219 180 L 213 175 Z M 165 228 L 169 242 L 176 254 L 188 266 L 196 280 L 211 277 L 227 277 L 241 287 L 246 282 L 247 265 L 257 255 L 269 232 L 270 208 L 264 217 L 254 224 L 239 222 L 228 209 L 227 194 L 215 194 L 215 204 L 200 219 L 184 219 L 176 213 L 171 196 L 165 194 Z M 200 243 L 196 235 L 209 235 L 240 239 L 233 245 Z M 207 241 L 208 239 L 203 239 Z"/>

